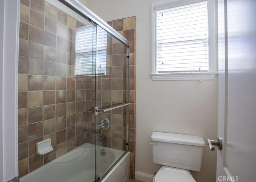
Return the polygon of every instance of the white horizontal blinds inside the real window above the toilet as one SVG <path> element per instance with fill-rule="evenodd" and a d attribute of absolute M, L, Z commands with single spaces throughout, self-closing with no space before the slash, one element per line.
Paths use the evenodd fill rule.
<path fill-rule="evenodd" d="M 156 12 L 157 71 L 208 71 L 207 2 Z"/>

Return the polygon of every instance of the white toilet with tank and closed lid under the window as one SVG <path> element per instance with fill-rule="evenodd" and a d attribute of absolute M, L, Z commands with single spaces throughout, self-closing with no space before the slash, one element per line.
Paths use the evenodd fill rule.
<path fill-rule="evenodd" d="M 153 182 L 196 182 L 188 170 L 201 170 L 202 137 L 153 132 L 151 141 L 153 161 L 163 165 Z"/>

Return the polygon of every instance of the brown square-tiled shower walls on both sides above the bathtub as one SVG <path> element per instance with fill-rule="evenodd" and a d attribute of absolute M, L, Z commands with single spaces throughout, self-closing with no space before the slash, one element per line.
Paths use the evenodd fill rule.
<path fill-rule="evenodd" d="M 130 41 L 129 150 L 134 178 L 136 126 L 136 18 L 108 22 Z M 83 143 L 94 143 L 95 122 L 110 120 L 110 128 L 96 127 L 97 145 L 125 149 L 125 107 L 99 114 L 126 100 L 126 48 L 108 36 L 106 76 L 75 76 L 75 30 L 82 24 L 44 0 L 21 0 L 18 68 L 19 176 L 64 155 Z M 96 87 L 96 91 L 95 91 Z M 54 151 L 36 155 L 36 143 L 50 138 Z"/>

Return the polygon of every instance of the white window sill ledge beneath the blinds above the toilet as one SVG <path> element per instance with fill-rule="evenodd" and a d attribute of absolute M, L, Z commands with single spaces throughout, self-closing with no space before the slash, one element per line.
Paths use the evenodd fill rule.
<path fill-rule="evenodd" d="M 150 74 L 152 80 L 214 80 L 218 72 L 158 73 Z"/>

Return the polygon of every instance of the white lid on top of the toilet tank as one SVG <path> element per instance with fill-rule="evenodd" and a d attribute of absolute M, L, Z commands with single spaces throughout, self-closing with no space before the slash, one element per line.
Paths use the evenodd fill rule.
<path fill-rule="evenodd" d="M 162 133 L 153 132 L 151 135 L 152 141 L 166 142 L 166 143 L 177 143 L 183 145 L 194 145 L 204 147 L 205 142 L 202 137 L 194 135 L 182 135 L 176 133 Z"/>

